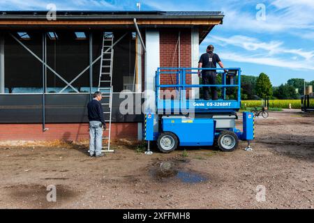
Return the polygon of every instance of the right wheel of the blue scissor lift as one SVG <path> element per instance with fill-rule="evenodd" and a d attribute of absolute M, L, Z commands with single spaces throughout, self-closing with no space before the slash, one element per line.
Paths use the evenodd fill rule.
<path fill-rule="evenodd" d="M 219 134 L 217 144 L 221 151 L 232 152 L 238 147 L 239 139 L 234 132 L 223 131 Z"/>

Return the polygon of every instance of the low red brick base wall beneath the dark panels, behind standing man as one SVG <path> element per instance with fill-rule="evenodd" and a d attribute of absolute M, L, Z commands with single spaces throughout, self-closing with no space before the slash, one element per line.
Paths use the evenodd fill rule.
<path fill-rule="evenodd" d="M 46 128 L 43 132 L 41 124 L 0 124 L 0 141 L 89 139 L 88 123 L 47 124 Z M 137 123 L 112 123 L 111 135 L 112 139 L 137 139 Z"/>

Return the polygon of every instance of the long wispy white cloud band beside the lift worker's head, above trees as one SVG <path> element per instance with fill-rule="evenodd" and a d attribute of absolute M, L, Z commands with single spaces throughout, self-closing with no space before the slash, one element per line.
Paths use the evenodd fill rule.
<path fill-rule="evenodd" d="M 314 70 L 314 51 L 304 49 L 290 49 L 283 47 L 281 41 L 262 42 L 248 36 L 210 36 L 204 44 L 214 43 L 227 49 L 220 51 L 221 59 L 240 63 L 255 63 L 264 66 L 276 66 L 292 70 Z M 230 52 L 230 47 L 234 48 Z M 237 54 L 234 53 L 237 51 Z"/>

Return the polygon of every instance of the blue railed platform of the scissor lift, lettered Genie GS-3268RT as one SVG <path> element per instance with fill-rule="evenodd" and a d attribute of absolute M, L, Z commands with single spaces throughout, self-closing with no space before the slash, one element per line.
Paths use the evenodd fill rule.
<path fill-rule="evenodd" d="M 186 77 L 188 75 L 197 75 L 202 70 L 228 70 L 232 72 L 232 76 L 237 77 L 237 84 L 227 84 L 227 74 L 218 72 L 223 75 L 223 84 L 187 84 Z M 175 84 L 160 84 L 160 76 L 175 75 Z M 170 77 L 172 77 L 170 76 Z M 186 98 L 186 91 L 193 88 L 216 86 L 223 89 L 223 97 L 219 100 L 200 100 Z M 226 100 L 226 89 L 237 88 L 237 99 Z M 161 89 L 175 89 L 177 97 L 174 99 L 160 98 Z M 181 110 L 182 107 L 190 109 L 193 107 L 195 112 L 238 112 L 241 107 L 241 69 L 240 68 L 158 68 L 155 76 L 156 106 L 159 112 L 165 109 Z"/>

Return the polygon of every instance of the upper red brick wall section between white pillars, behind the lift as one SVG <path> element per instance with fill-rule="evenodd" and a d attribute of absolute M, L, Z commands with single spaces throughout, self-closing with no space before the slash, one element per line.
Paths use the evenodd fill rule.
<path fill-rule="evenodd" d="M 180 35 L 180 66 L 190 68 L 191 66 L 191 31 L 190 29 L 161 29 L 160 30 L 160 67 L 179 67 L 179 31 Z M 186 75 L 186 83 L 191 84 L 190 75 Z M 160 75 L 160 84 L 177 84 L 177 75 Z M 163 89 L 165 90 L 165 89 Z M 168 88 L 167 90 L 174 90 Z M 189 92 L 187 92 L 188 95 Z M 166 93 L 167 94 L 167 93 Z M 175 97 L 166 95 L 165 98 Z"/>

